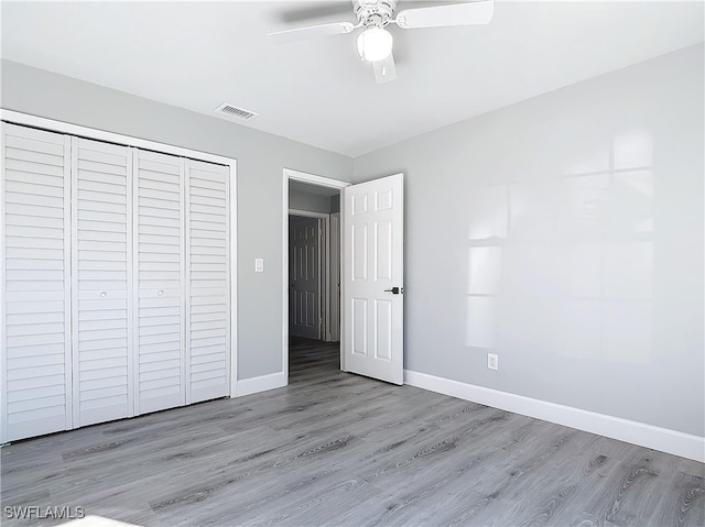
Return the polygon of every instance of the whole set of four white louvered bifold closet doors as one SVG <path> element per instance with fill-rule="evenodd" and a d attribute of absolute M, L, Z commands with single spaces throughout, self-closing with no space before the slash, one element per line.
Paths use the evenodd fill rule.
<path fill-rule="evenodd" d="M 230 394 L 230 166 L 2 123 L 1 442 Z"/>

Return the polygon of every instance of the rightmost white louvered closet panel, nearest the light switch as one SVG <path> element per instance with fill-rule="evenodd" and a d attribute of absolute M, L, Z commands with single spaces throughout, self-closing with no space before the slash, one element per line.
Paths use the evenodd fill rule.
<path fill-rule="evenodd" d="M 230 393 L 229 168 L 186 160 L 187 403 Z"/>

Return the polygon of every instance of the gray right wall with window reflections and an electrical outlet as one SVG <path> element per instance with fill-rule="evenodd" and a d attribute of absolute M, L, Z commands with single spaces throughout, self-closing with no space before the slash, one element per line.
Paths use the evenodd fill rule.
<path fill-rule="evenodd" d="M 698 45 L 357 158 L 406 174 L 405 367 L 705 435 L 703 77 Z"/>

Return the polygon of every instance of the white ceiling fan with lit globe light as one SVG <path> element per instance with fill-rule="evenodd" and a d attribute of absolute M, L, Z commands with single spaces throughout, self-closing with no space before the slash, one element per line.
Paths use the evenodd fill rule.
<path fill-rule="evenodd" d="M 452 25 L 487 24 L 492 19 L 492 0 L 479 0 L 449 6 L 404 9 L 397 12 L 397 0 L 352 0 L 357 24 L 335 22 L 294 30 L 278 31 L 269 36 L 280 41 L 308 39 L 313 36 L 338 35 L 364 28 L 357 37 L 357 50 L 362 61 L 372 64 L 378 84 L 397 78 L 397 67 L 392 55 L 393 37 L 387 31 L 389 24 L 403 30 L 417 28 L 446 28 Z"/>

